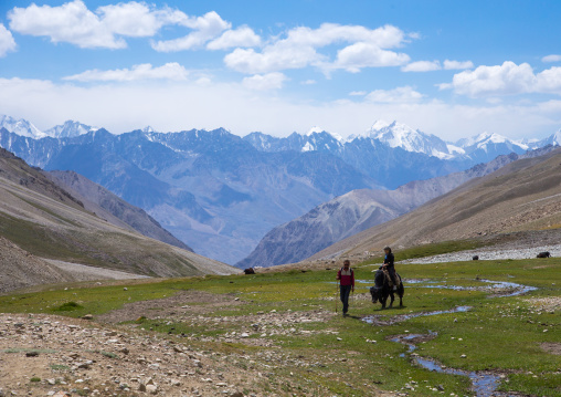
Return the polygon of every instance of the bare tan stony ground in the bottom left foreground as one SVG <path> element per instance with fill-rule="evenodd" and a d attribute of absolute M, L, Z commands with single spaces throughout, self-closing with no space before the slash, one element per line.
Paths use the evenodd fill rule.
<path fill-rule="evenodd" d="M 181 292 L 129 303 L 93 320 L 0 314 L 0 396 L 283 396 L 293 395 L 287 391 L 296 379 L 292 372 L 287 378 L 274 375 L 275 368 L 307 370 L 332 364 L 332 357 L 282 352 L 268 336 L 313 337 L 316 331 L 301 325 L 327 321 L 334 313 L 318 309 L 235 317 L 204 315 L 212 306 L 241 304 L 230 295 Z M 173 317 L 198 326 L 251 325 L 201 336 L 156 333 L 141 330 L 134 321 L 117 324 L 142 313 L 162 323 Z M 321 332 L 338 337 L 337 332 Z M 300 389 L 297 395 L 307 393 Z"/>

